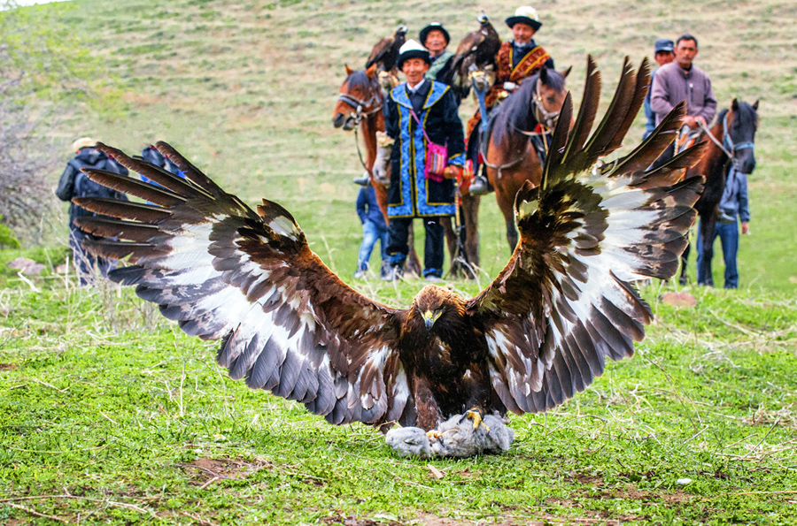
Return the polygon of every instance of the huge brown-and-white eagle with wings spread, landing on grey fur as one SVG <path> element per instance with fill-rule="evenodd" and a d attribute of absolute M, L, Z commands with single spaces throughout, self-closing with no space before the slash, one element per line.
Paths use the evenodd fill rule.
<path fill-rule="evenodd" d="M 600 75 L 589 64 L 573 131 L 568 95 L 542 184 L 517 195 L 521 240 L 475 298 L 429 285 L 408 309 L 369 300 L 311 252 L 288 210 L 266 200 L 251 210 L 165 142 L 157 148 L 185 179 L 97 144 L 157 185 L 89 171 L 149 203 L 75 199 L 104 216 L 77 220 L 104 238 L 85 247 L 128 257 L 112 280 L 135 285 L 184 332 L 221 340 L 217 360 L 230 377 L 329 423 L 433 431 L 473 408 L 545 411 L 583 391 L 607 359 L 633 354 L 652 315 L 630 282 L 674 275 L 702 187 L 699 177 L 678 182 L 700 145 L 646 168 L 675 137 L 683 104 L 631 154 L 597 163 L 631 126 L 649 68 L 643 62 L 637 72 L 626 59 L 590 135 Z"/>

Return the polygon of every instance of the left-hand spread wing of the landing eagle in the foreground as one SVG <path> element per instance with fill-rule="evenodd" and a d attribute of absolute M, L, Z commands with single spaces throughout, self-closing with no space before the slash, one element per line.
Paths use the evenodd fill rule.
<path fill-rule="evenodd" d="M 75 200 L 113 217 L 81 217 L 81 230 L 104 238 L 84 246 L 135 263 L 110 278 L 136 285 L 184 332 L 222 339 L 218 362 L 252 388 L 298 400 L 330 423 L 399 419 L 408 393 L 395 352 L 401 313 L 340 281 L 287 210 L 264 200 L 255 213 L 163 142 L 158 149 L 186 179 L 97 149 L 157 183 L 91 171 L 153 204 Z"/>

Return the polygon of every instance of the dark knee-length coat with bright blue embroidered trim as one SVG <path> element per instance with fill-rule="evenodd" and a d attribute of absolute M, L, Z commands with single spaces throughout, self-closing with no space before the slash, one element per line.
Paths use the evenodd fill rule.
<path fill-rule="evenodd" d="M 429 140 L 448 145 L 448 163 L 465 164 L 465 138 L 451 89 L 431 82 L 421 111 L 415 114 L 423 123 Z M 388 189 L 389 217 L 433 217 L 454 214 L 454 180 L 437 182 L 423 176 L 426 139 L 415 121 L 402 82 L 391 91 L 384 105 L 385 132 L 395 140 L 391 152 L 391 187 Z"/>

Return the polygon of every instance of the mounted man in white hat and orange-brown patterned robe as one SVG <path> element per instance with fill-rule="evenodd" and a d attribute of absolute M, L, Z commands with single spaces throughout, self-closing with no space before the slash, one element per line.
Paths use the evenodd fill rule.
<path fill-rule="evenodd" d="M 507 26 L 512 29 L 513 38 L 503 42 L 495 56 L 495 83 L 484 97 L 487 111 L 507 98 L 522 84 L 523 80 L 538 72 L 539 68 L 553 69 L 553 58 L 542 46 L 534 42 L 542 22 L 537 10 L 530 5 L 523 5 L 515 10 L 515 15 L 507 18 Z M 484 116 L 476 111 L 476 115 L 468 121 L 468 158 L 473 161 L 474 173 L 478 172 L 479 125 Z M 487 179 L 476 176 L 470 185 L 471 194 L 486 194 L 489 191 Z"/>

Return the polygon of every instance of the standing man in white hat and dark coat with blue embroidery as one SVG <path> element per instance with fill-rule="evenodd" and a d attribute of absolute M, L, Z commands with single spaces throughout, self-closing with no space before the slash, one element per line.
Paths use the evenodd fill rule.
<path fill-rule="evenodd" d="M 424 77 L 429 71 L 429 51 L 410 40 L 401 46 L 399 69 L 406 82 L 393 88 L 384 105 L 385 132 L 393 139 L 391 186 L 388 189 L 391 270 L 387 279 L 398 279 L 409 253 L 408 228 L 421 217 L 426 229 L 423 276 L 439 281 L 443 276 L 444 231 L 441 216 L 452 216 L 453 179 L 461 176 L 465 141 L 457 103 L 448 86 Z M 426 178 L 429 142 L 447 147 L 449 167 L 445 178 Z M 453 178 L 453 179 L 451 179 Z"/>

